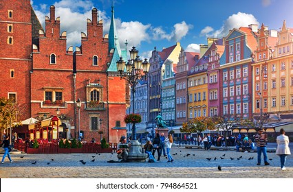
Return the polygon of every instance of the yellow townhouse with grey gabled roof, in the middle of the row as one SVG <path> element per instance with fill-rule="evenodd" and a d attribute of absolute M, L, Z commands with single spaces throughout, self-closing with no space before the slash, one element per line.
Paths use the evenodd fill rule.
<path fill-rule="evenodd" d="M 188 71 L 188 119 L 208 117 L 208 52 Z"/>

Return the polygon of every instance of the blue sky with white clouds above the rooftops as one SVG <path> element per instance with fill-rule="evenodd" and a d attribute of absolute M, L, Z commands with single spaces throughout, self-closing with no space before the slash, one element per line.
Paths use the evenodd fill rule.
<path fill-rule="evenodd" d="M 31 0 L 39 21 L 45 28 L 50 5 L 61 17 L 61 32 L 67 31 L 67 47 L 79 47 L 80 33 L 86 34 L 87 19 L 97 8 L 104 21 L 104 34 L 109 33 L 111 6 L 114 5 L 116 27 L 121 49 L 125 40 L 150 58 L 154 47 L 162 51 L 180 42 L 185 51 L 199 51 L 207 37 L 225 37 L 230 29 L 261 23 L 279 30 L 283 21 L 293 28 L 292 0 Z"/>

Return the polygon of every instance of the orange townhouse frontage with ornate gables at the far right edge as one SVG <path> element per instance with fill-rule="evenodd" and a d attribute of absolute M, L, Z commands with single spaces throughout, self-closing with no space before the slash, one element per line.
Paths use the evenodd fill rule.
<path fill-rule="evenodd" d="M 270 121 L 293 120 L 293 29 L 261 26 L 253 66 L 253 113 Z"/>

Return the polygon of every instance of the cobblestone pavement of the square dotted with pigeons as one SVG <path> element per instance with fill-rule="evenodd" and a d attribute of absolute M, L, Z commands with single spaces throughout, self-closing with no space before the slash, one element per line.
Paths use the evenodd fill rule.
<path fill-rule="evenodd" d="M 166 163 L 107 163 L 116 154 L 12 154 L 0 165 L 1 178 L 293 178 L 293 156 L 287 156 L 286 171 L 281 171 L 279 156 L 268 153 L 270 165 L 257 166 L 257 153 L 204 151 L 173 147 L 175 161 Z M 186 154 L 191 154 L 186 156 Z M 223 156 L 226 154 L 225 156 Z M 23 158 L 21 158 L 23 156 Z M 92 158 L 91 156 L 95 156 Z M 237 158 L 240 158 L 237 160 Z M 155 158 L 156 158 L 155 154 Z M 214 160 L 214 158 L 217 160 Z M 220 157 L 224 157 L 223 160 Z M 231 160 L 230 158 L 234 158 Z M 253 157 L 252 160 L 248 158 Z M 52 160 L 52 158 L 54 160 Z M 206 158 L 212 158 L 206 160 Z M 94 162 L 91 160 L 95 159 Z M 84 160 L 85 165 L 79 162 Z M 35 165 L 32 163 L 36 161 Z M 48 165 L 49 163 L 49 165 Z M 220 165 L 222 171 L 218 171 Z"/>

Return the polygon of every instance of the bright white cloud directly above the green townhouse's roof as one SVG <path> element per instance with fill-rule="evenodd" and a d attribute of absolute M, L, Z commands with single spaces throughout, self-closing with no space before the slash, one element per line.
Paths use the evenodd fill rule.
<path fill-rule="evenodd" d="M 220 29 L 217 29 L 216 31 L 210 31 L 206 34 L 201 33 L 203 36 L 207 37 L 215 37 L 215 38 L 221 38 L 226 36 L 230 30 L 233 28 L 238 29 L 239 27 L 248 27 L 250 24 L 257 24 L 259 25 L 259 22 L 252 14 L 246 14 L 243 12 L 238 12 L 237 14 L 232 14 L 231 16 L 224 21 L 224 24 L 221 26 Z M 204 29 L 206 29 L 205 27 Z M 202 31 L 204 30 L 202 29 Z"/>

